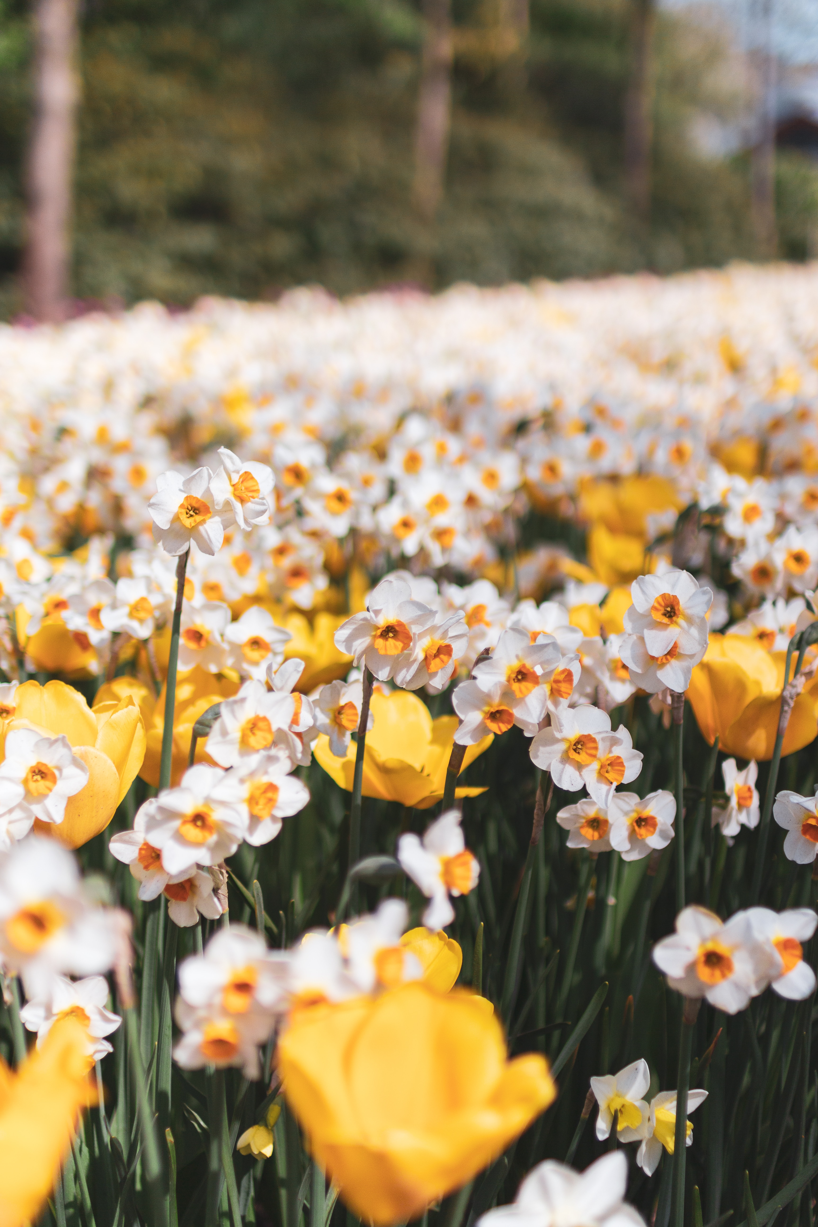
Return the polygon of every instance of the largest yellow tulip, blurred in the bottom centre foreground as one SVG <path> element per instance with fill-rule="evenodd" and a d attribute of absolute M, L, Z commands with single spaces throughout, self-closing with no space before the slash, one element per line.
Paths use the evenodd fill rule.
<path fill-rule="evenodd" d="M 378 1227 L 465 1184 L 556 1094 L 538 1053 L 508 1060 L 477 999 L 422 982 L 299 1011 L 278 1067 L 310 1152 Z"/>

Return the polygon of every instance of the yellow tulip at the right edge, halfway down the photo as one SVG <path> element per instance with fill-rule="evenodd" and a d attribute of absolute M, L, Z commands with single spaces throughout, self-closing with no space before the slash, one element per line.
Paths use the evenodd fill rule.
<path fill-rule="evenodd" d="M 751 636 L 710 636 L 704 660 L 693 670 L 687 691 L 709 745 L 717 734 L 725 753 L 757 762 L 773 757 L 781 710 L 782 661 L 784 653 L 768 653 Z M 808 746 L 816 734 L 814 698 L 805 691 L 792 704 L 782 756 Z"/>

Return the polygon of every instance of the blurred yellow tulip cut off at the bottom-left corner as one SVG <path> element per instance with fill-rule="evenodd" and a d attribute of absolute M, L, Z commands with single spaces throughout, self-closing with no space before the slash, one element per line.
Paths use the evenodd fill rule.
<path fill-rule="evenodd" d="M 16 1072 L 0 1061 L 0 1227 L 39 1218 L 71 1145 L 88 1083 L 85 1027 L 64 1018 Z"/>

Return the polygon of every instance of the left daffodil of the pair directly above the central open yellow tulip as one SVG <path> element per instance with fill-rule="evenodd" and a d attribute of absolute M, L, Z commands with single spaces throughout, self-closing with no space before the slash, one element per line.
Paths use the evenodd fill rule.
<path fill-rule="evenodd" d="M 335 645 L 379 681 L 388 681 L 408 663 L 417 636 L 434 617 L 428 605 L 411 599 L 408 584 L 388 575 L 369 594 L 367 611 L 353 614 L 338 627 Z"/>

